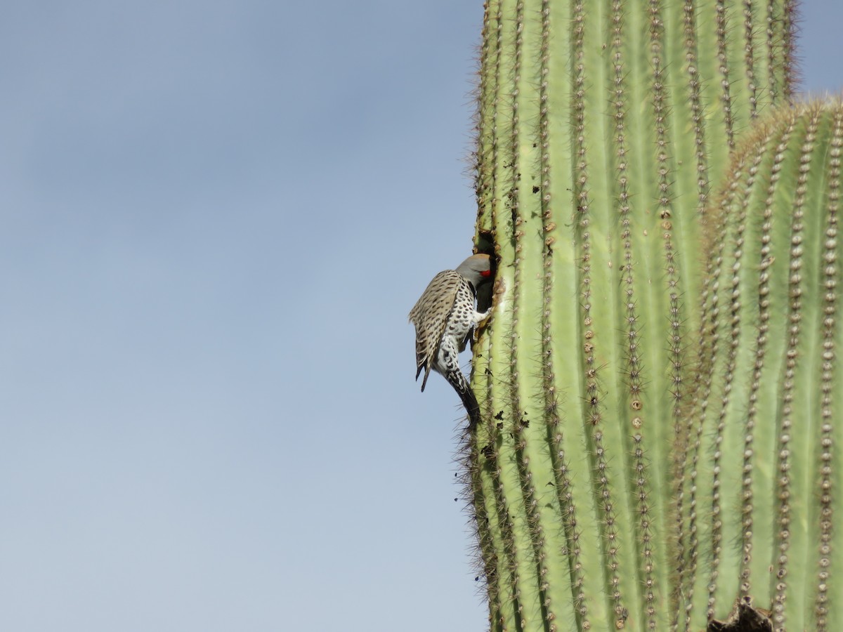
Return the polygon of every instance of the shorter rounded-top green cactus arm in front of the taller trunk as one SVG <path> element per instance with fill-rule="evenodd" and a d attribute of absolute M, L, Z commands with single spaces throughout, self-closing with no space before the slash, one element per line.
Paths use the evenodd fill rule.
<path fill-rule="evenodd" d="M 722 619 L 751 598 L 777 632 L 843 629 L 841 150 L 840 102 L 776 112 L 734 154 L 712 217 L 690 473 L 711 559 L 690 581 L 695 608 Z"/>

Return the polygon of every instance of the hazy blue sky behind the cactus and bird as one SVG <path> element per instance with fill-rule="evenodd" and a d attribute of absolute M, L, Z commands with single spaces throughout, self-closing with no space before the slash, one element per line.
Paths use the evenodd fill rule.
<path fill-rule="evenodd" d="M 482 3 L 8 3 L 0 629 L 486 629 L 458 399 Z M 843 88 L 806 0 L 804 87 Z"/>

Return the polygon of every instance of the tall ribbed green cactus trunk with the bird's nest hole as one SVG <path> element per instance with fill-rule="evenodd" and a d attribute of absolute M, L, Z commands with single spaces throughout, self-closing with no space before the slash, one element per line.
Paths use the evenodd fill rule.
<path fill-rule="evenodd" d="M 706 626 L 701 226 L 740 133 L 790 97 L 792 12 L 486 3 L 477 243 L 499 265 L 464 471 L 493 630 Z"/>

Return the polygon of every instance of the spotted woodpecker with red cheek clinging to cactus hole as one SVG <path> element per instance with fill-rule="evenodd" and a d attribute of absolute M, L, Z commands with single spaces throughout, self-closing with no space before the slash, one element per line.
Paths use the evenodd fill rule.
<path fill-rule="evenodd" d="M 459 368 L 459 352 L 471 338 L 475 327 L 491 313 L 475 308 L 477 290 L 491 282 L 491 257 L 472 254 L 456 270 L 443 270 L 427 285 L 410 310 L 410 322 L 416 327 L 416 382 L 421 371 L 424 392 L 431 369 L 454 387 L 469 415 L 470 426 L 480 420 L 477 398 Z"/>

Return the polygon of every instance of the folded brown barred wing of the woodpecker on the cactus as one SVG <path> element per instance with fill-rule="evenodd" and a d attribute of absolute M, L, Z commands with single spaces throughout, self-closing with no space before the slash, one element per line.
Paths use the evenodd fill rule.
<path fill-rule="evenodd" d="M 410 321 L 416 326 L 416 380 L 421 374 L 421 369 L 424 369 L 422 391 L 439 352 L 439 345 L 442 344 L 457 292 L 464 282 L 463 277 L 455 270 L 439 272 L 410 310 Z"/>

